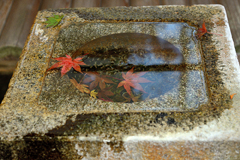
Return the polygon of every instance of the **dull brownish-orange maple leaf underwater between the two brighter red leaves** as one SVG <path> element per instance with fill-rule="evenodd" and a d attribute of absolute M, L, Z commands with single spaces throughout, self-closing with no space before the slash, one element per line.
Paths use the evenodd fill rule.
<path fill-rule="evenodd" d="M 100 89 L 103 90 L 106 87 L 105 83 L 114 83 L 112 80 L 106 78 L 106 75 L 100 75 L 97 72 L 86 72 L 87 75 L 90 77 L 87 77 L 83 80 L 83 83 L 89 83 L 89 89 L 92 90 L 99 85 Z"/>

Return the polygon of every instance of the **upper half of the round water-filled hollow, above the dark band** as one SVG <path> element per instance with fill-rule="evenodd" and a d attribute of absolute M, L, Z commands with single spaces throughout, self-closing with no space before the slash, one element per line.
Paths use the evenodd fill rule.
<path fill-rule="evenodd" d="M 157 36 L 142 33 L 121 33 L 103 36 L 84 44 L 73 57 L 89 53 L 89 65 L 161 65 L 180 64 L 181 51 Z"/>

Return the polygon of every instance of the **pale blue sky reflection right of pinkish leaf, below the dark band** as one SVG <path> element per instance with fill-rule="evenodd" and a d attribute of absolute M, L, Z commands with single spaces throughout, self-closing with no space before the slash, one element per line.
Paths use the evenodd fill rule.
<path fill-rule="evenodd" d="M 186 75 L 186 79 L 182 79 L 185 77 L 184 75 Z M 208 101 L 203 71 L 148 71 L 143 77 L 153 82 L 140 83 L 147 93 L 142 94 L 141 98 L 143 100 L 147 97 L 161 97 L 161 95 L 164 96 L 171 93 L 170 97 L 164 96 L 165 98 L 160 98 L 161 106 L 168 103 L 171 104 L 171 101 L 174 99 L 177 104 L 181 102 L 184 104 L 183 107 L 188 109 L 198 108 L 199 105 Z M 134 88 L 132 90 L 134 93 L 141 93 L 141 91 Z M 173 105 L 172 107 L 177 106 Z"/>

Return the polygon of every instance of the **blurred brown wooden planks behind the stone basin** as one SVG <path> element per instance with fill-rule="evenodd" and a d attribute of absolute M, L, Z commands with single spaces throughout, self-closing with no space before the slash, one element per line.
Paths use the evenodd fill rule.
<path fill-rule="evenodd" d="M 221 4 L 240 57 L 240 0 L 0 0 L 0 102 L 39 10 L 79 7 Z"/>

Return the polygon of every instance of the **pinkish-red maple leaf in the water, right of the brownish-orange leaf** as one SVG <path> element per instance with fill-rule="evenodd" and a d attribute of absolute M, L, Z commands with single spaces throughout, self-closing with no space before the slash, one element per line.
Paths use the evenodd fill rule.
<path fill-rule="evenodd" d="M 133 67 L 134 68 L 134 67 Z M 142 78 L 141 76 L 143 76 L 146 72 L 140 72 L 140 73 L 133 73 L 133 68 L 130 69 L 126 75 L 124 73 L 122 73 L 122 77 L 125 79 L 124 81 L 121 81 L 118 84 L 118 87 L 123 86 L 127 93 L 131 96 L 131 88 L 133 87 L 137 90 L 140 90 L 142 92 L 145 92 L 142 88 L 142 86 L 139 83 L 148 83 L 148 82 L 152 82 L 147 80 L 146 78 Z M 146 93 L 146 92 L 145 92 Z"/>

